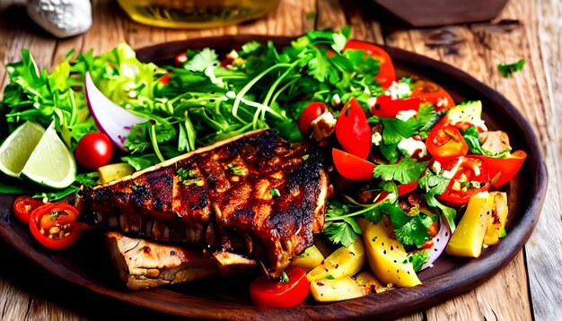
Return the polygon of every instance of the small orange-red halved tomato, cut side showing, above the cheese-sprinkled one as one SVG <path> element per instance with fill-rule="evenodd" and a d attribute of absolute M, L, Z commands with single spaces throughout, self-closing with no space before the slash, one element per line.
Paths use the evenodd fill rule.
<path fill-rule="evenodd" d="M 440 120 L 429 131 L 426 139 L 427 152 L 436 160 L 448 157 L 464 156 L 469 152 L 469 145 L 457 127 Z"/>

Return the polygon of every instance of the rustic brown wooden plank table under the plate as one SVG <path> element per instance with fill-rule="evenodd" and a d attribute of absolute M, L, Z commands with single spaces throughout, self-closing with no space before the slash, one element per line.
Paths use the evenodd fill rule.
<path fill-rule="evenodd" d="M 365 2 L 366 3 L 366 2 Z M 131 22 L 110 0 L 93 0 L 93 26 L 82 36 L 54 39 L 35 26 L 22 7 L 0 16 L 0 88 L 4 64 L 29 48 L 41 67 L 60 62 L 69 49 L 101 53 L 128 42 L 133 48 L 223 34 L 298 36 L 306 30 L 340 29 L 353 37 L 455 65 L 500 91 L 528 117 L 540 137 L 549 172 L 549 192 L 531 239 L 514 260 L 489 281 L 459 297 L 405 317 L 411 320 L 562 319 L 562 2 L 512 0 L 492 23 L 423 30 L 386 19 L 362 2 L 282 0 L 264 19 L 213 30 L 164 30 Z M 381 18 L 382 17 L 382 18 Z M 438 41 L 435 41 L 437 39 Z M 496 71 L 500 62 L 520 58 L 526 65 L 512 78 Z M 61 281 L 31 264 L 0 241 L 0 318 L 83 319 L 162 317 Z"/>

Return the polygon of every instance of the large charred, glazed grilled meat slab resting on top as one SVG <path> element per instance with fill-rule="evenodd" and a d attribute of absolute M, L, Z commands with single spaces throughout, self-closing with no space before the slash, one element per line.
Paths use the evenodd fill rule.
<path fill-rule="evenodd" d="M 264 263 L 278 276 L 324 223 L 321 152 L 273 131 L 241 134 L 78 195 L 80 220 Z"/>

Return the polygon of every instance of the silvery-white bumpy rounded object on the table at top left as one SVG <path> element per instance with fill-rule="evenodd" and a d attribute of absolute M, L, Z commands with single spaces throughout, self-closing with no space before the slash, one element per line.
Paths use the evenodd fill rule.
<path fill-rule="evenodd" d="M 90 0 L 28 0 L 27 13 L 58 38 L 72 37 L 92 27 Z"/>

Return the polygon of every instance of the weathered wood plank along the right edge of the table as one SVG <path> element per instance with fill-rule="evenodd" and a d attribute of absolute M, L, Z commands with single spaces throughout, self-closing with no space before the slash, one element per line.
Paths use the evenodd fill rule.
<path fill-rule="evenodd" d="M 539 83 L 544 104 L 546 131 L 546 166 L 549 187 L 540 220 L 526 249 L 531 299 L 536 320 L 562 319 L 562 3 L 556 0 L 536 1 L 532 15 L 538 22 L 532 32 L 539 50 L 531 50 L 531 59 L 539 59 L 544 67 L 546 83 Z M 542 79 L 540 79 L 542 80 Z M 533 111 L 531 111 L 533 112 Z M 542 134 L 542 133 L 541 133 Z"/>

